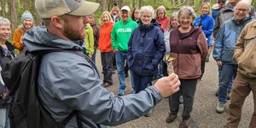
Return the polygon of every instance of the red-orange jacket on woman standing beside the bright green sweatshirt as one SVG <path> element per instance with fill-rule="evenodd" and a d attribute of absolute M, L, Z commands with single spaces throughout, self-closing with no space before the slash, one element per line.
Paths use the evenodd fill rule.
<path fill-rule="evenodd" d="M 99 49 L 101 52 L 110 52 L 113 50 L 111 44 L 111 31 L 113 29 L 113 22 L 108 22 L 107 24 L 103 24 L 100 30 L 100 38 L 99 38 Z"/>

